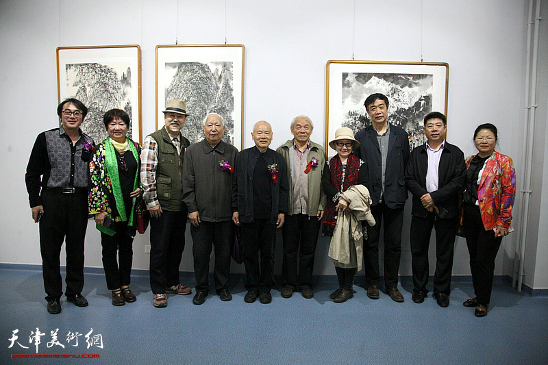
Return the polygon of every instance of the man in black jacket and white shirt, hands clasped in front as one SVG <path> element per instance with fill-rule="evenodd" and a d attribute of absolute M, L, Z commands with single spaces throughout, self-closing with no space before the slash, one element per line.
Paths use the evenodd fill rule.
<path fill-rule="evenodd" d="M 428 290 L 428 247 L 432 227 L 436 228 L 436 272 L 434 297 L 440 307 L 449 305 L 453 245 L 457 231 L 458 192 L 464 186 L 464 154 L 445 141 L 447 120 L 440 112 L 424 118 L 427 142 L 410 156 L 406 183 L 413 194 L 411 219 L 411 255 L 413 296 L 422 303 Z"/>

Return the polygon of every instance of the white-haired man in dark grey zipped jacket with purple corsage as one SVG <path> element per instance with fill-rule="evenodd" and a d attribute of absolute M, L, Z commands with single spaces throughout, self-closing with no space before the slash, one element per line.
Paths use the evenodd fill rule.
<path fill-rule="evenodd" d="M 191 144 L 184 155 L 183 201 L 192 224 L 192 254 L 196 294 L 192 303 L 203 304 L 208 297 L 209 264 L 215 246 L 214 281 L 221 301 L 232 299 L 227 288 L 230 271 L 232 225 L 232 166 L 238 149 L 223 142 L 223 117 L 210 113 L 203 122 L 201 142 Z"/>

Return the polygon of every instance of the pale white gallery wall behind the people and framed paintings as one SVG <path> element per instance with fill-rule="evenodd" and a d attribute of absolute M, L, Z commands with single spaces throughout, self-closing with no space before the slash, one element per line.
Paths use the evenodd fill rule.
<path fill-rule="evenodd" d="M 58 126 L 56 47 L 140 45 L 146 136 L 155 130 L 156 45 L 225 40 L 245 45 L 245 147 L 252 145 L 253 123 L 264 119 L 273 125 L 271 147 L 276 148 L 292 137 L 289 123 L 298 114 L 312 118 L 312 139 L 324 143 L 327 60 L 447 62 L 448 141 L 470 155 L 475 151 L 475 127 L 494 123 L 499 127 L 499 151 L 514 158 L 521 179 L 526 17 L 525 0 L 0 0 L 0 262 L 41 264 L 38 225 L 31 219 L 24 175 L 36 136 Z M 546 83 L 539 87 L 547 88 Z M 537 123 L 545 133 L 546 115 Z M 544 136 L 541 143 L 540 156 L 548 155 Z M 536 164 L 536 181 L 542 181 L 547 170 L 543 161 Z M 537 231 L 532 233 L 534 249 L 527 253 L 524 280 L 532 288 L 548 288 L 546 227 L 542 234 L 538 231 L 541 212 L 546 216 L 538 207 L 548 200 L 547 190 L 546 184 L 538 184 L 538 196 L 532 199 L 538 202 L 530 216 Z M 519 225 L 519 201 L 518 195 L 514 225 Z M 410 202 L 401 275 L 411 274 L 409 225 Z M 184 271 L 192 271 L 189 231 Z M 512 275 L 516 240 L 517 234 L 503 240 L 497 275 Z M 136 237 L 134 268 L 148 268 L 147 244 L 148 232 Z M 317 274 L 334 274 L 328 244 L 320 238 Z M 281 240 L 277 246 L 279 273 Z M 458 238 L 453 275 L 470 275 L 468 259 L 466 243 Z M 93 221 L 86 236 L 86 266 L 102 266 Z M 536 266 L 545 273 L 538 276 L 539 285 Z M 243 273 L 243 267 L 234 264 L 233 272 Z"/>

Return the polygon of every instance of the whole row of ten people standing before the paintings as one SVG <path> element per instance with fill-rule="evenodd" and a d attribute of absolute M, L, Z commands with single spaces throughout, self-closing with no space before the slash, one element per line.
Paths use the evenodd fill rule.
<path fill-rule="evenodd" d="M 145 138 L 142 148 L 127 138 L 129 116 L 108 111 L 108 138 L 95 143 L 79 129 L 87 108 L 77 99 L 58 106 L 61 126 L 38 135 L 25 177 L 32 217 L 40 222 L 40 251 L 47 310 L 61 312 L 60 250 L 66 242 L 66 297 L 88 305 L 84 286 L 84 236 L 88 214 L 101 231 L 103 267 L 112 304 L 136 301 L 129 289 L 136 212 L 150 213 L 150 283 L 153 305 L 165 307 L 166 294 L 191 294 L 179 281 L 179 264 L 190 221 L 196 293 L 201 305 L 211 290 L 208 276 L 214 248 L 214 287 L 230 301 L 227 282 L 235 230 L 241 234 L 246 281 L 245 301 L 270 303 L 274 286 L 274 242 L 282 229 L 282 297 L 301 292 L 314 297 L 312 273 L 318 234 L 331 236 L 339 287 L 330 295 L 341 303 L 353 297 L 357 270 L 365 266 L 367 296 L 378 299 L 379 236 L 384 221 L 384 286 L 402 302 L 398 272 L 403 206 L 413 195 L 410 241 L 414 294 L 427 296 L 429 237 L 436 229 L 434 297 L 449 305 L 453 245 L 458 224 L 470 251 L 476 297 L 464 302 L 484 316 L 493 284 L 495 257 L 502 236 L 511 230 L 515 173 L 512 160 L 495 152 L 497 129 L 480 125 L 477 155 L 465 162 L 458 147 L 445 141 L 445 116 L 425 117 L 427 142 L 410 153 L 406 131 L 388 123 L 388 98 L 370 95 L 364 106 L 371 125 L 354 136 L 336 131 L 329 160 L 310 140 L 314 125 L 297 116 L 294 138 L 270 149 L 271 125 L 253 125 L 254 146 L 240 152 L 223 142 L 223 117 L 204 118 L 204 139 L 190 144 L 181 134 L 184 101 L 164 110 L 165 125 Z M 141 201 L 142 200 L 142 201 Z M 459 205 L 459 201 L 462 205 Z M 117 256 L 117 257 L 116 257 Z"/>

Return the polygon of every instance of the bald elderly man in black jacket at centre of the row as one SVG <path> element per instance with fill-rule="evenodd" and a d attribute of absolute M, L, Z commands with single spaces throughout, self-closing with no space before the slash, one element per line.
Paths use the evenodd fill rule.
<path fill-rule="evenodd" d="M 267 304 L 272 301 L 270 291 L 274 285 L 276 228 L 284 225 L 287 212 L 286 161 L 269 149 L 272 142 L 269 123 L 256 123 L 251 138 L 255 146 L 236 155 L 232 221 L 242 227 L 245 301 L 253 303 L 259 297 L 261 303 Z"/>

